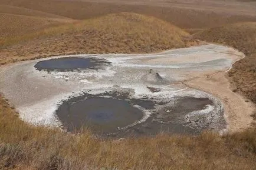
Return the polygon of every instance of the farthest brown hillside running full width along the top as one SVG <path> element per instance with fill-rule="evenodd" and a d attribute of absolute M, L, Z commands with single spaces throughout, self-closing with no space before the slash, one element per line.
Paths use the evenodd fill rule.
<path fill-rule="evenodd" d="M 18 6 L 20 8 L 33 9 L 37 11 L 47 12 L 59 16 L 65 16 L 73 19 L 88 19 L 108 14 L 120 12 L 132 12 L 136 14 L 155 16 L 163 19 L 180 28 L 211 28 L 223 24 L 231 24 L 235 22 L 254 21 L 256 22 L 256 13 L 251 9 L 251 6 L 243 6 L 243 9 L 236 7 L 235 13 L 229 14 L 227 11 L 234 8 L 221 4 L 217 6 L 204 6 L 196 3 L 194 5 L 186 6 L 182 2 L 168 2 L 168 1 L 119 1 L 120 3 L 107 3 L 109 0 L 86 2 L 73 0 L 2 0 L 0 5 Z M 165 3 L 166 2 L 166 3 Z M 188 1 L 186 1 L 188 2 Z M 160 5 L 157 5 L 159 4 Z M 164 4 L 162 4 L 164 3 Z M 207 3 L 207 2 L 205 2 Z M 145 5 L 137 5 L 145 4 Z M 178 4 L 178 6 L 177 6 Z M 189 3 L 188 3 L 189 4 Z M 193 4 L 193 2 L 192 2 Z M 181 6 L 179 6 L 181 5 Z M 175 7 L 176 6 L 176 7 Z M 179 8 L 178 8 L 179 7 Z M 215 9 L 213 10 L 212 9 Z M 245 11 L 245 14 L 241 11 Z M 253 11 L 254 15 L 247 15 L 248 11 Z"/>

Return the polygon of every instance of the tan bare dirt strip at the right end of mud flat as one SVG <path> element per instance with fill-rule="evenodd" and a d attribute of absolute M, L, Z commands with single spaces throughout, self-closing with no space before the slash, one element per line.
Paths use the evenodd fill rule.
<path fill-rule="evenodd" d="M 251 126 L 253 121 L 251 114 L 255 111 L 255 106 L 241 95 L 232 92 L 225 72 L 195 78 L 184 84 L 211 93 L 222 100 L 229 132 L 242 131 Z"/>

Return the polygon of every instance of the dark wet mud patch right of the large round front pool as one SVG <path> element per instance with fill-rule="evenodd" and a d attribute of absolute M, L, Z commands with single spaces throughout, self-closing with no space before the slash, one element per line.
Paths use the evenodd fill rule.
<path fill-rule="evenodd" d="M 189 134 L 196 135 L 200 132 L 208 129 L 207 125 L 200 124 L 198 122 L 206 121 L 206 115 L 197 115 L 196 118 L 189 121 L 184 121 L 189 113 L 197 112 L 205 109 L 207 105 L 211 105 L 212 101 L 207 98 L 176 98 L 172 99 L 175 105 L 171 102 L 168 104 L 156 104 L 158 108 L 152 111 L 152 115 L 145 122 L 137 124 L 124 131 L 117 131 L 113 134 L 107 134 L 114 138 L 126 137 L 126 136 L 155 136 L 160 133 L 165 134 Z M 215 122 L 216 123 L 216 122 Z M 225 120 L 219 122 L 219 126 L 225 127 Z M 193 124 L 198 124 L 193 126 Z"/>

